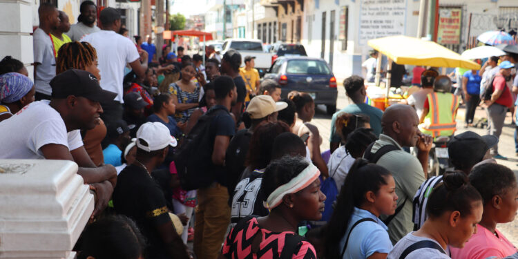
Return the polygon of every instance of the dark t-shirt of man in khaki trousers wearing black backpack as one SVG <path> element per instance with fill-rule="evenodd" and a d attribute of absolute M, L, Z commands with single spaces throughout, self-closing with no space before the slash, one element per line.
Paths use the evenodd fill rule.
<path fill-rule="evenodd" d="M 236 122 L 232 119 L 230 116 L 229 110 L 225 106 L 221 105 L 215 105 L 211 109 L 215 108 L 221 108 L 226 111 L 226 113 L 220 113 L 219 115 L 215 115 L 211 121 L 211 147 L 214 146 L 214 141 L 216 136 L 229 136 L 232 137 L 233 135 L 236 135 Z M 212 152 L 213 152 L 213 148 Z M 217 175 L 218 182 L 222 184 L 223 186 L 227 186 L 227 170 L 224 168 L 224 166 L 219 166 L 212 164 L 212 161 L 209 161 L 211 163 L 211 171 Z"/>

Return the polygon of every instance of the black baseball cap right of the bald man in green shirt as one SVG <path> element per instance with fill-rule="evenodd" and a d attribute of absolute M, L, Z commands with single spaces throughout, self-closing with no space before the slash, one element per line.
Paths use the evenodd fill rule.
<path fill-rule="evenodd" d="M 452 137 L 448 143 L 448 155 L 457 162 L 476 164 L 496 144 L 498 137 L 494 135 L 481 136 L 473 131 L 466 131 Z"/>

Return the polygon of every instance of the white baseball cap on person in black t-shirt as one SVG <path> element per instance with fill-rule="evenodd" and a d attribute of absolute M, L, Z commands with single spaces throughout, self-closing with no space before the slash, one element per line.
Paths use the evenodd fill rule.
<path fill-rule="evenodd" d="M 175 137 L 169 133 L 169 128 L 160 122 L 146 122 L 137 131 L 137 147 L 147 152 L 157 151 L 166 146 L 175 147 L 177 144 Z"/>

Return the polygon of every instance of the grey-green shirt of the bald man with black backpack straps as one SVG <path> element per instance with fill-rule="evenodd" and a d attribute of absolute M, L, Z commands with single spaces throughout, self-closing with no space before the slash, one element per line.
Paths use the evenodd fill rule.
<path fill-rule="evenodd" d="M 390 240 L 392 244 L 396 244 L 396 242 L 414 229 L 414 222 L 412 222 L 412 199 L 419 186 L 426 179 L 423 166 L 421 166 L 419 160 L 414 155 L 403 151 L 403 148 L 392 137 L 381 134 L 379 140 L 374 142 L 371 152 L 376 153 L 379 148 L 389 144 L 397 146 L 401 150 L 386 153 L 376 164 L 383 166 L 383 168 L 392 173 L 394 182 L 396 182 L 396 195 L 398 195 L 397 206 L 401 206 L 406 198 L 403 209 L 387 225 Z M 381 219 L 385 218 L 387 217 L 381 217 Z"/>

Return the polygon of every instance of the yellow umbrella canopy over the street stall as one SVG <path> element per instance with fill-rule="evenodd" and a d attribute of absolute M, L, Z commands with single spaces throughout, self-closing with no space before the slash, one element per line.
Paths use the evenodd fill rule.
<path fill-rule="evenodd" d="M 433 42 L 403 35 L 371 39 L 367 44 L 397 64 L 480 69 L 480 65 Z"/>

